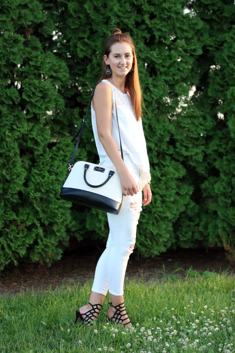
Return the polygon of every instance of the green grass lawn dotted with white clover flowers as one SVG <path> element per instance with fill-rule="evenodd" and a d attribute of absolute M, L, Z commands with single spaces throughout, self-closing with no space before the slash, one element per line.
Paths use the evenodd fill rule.
<path fill-rule="evenodd" d="M 93 326 L 74 325 L 91 286 L 89 281 L 1 297 L 0 351 L 235 352 L 235 275 L 205 271 L 150 285 L 126 280 L 132 328 L 107 321 L 108 298 Z"/>

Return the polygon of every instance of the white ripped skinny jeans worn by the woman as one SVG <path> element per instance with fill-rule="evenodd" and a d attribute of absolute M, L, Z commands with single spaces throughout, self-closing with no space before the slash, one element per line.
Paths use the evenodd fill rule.
<path fill-rule="evenodd" d="M 134 164 L 125 160 L 129 172 L 138 184 L 140 171 Z M 133 196 L 123 196 L 122 207 L 118 215 L 107 214 L 109 238 L 95 269 L 92 291 L 106 295 L 123 295 L 126 266 L 134 250 L 136 227 L 142 210 L 142 192 Z"/>

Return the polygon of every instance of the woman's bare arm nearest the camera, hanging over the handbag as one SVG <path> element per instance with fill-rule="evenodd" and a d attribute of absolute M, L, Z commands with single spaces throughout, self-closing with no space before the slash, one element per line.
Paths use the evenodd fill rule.
<path fill-rule="evenodd" d="M 133 196 L 134 193 L 137 193 L 138 186 L 123 162 L 112 137 L 112 89 L 107 83 L 98 84 L 95 89 L 93 108 L 95 110 L 99 140 L 117 169 L 123 195 Z"/>

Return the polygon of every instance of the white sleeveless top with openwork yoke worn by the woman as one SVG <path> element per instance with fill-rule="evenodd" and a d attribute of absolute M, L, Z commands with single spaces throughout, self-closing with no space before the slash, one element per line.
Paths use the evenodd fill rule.
<path fill-rule="evenodd" d="M 102 82 L 109 84 L 112 88 L 112 137 L 115 140 L 115 143 L 121 154 L 117 116 L 115 109 L 116 102 L 124 161 L 125 159 L 130 160 L 132 163 L 134 163 L 136 167 L 140 169 L 140 183 L 138 187 L 140 190 L 142 190 L 144 185 L 148 184 L 151 180 L 142 119 L 140 119 L 139 121 L 136 120 L 135 114 L 132 109 L 131 99 L 128 93 L 124 94 L 120 92 L 108 80 L 102 80 Z M 99 140 L 95 119 L 95 111 L 92 105 L 91 119 L 95 144 L 100 158 L 100 165 L 113 168 L 113 163 L 105 152 L 105 149 Z"/>

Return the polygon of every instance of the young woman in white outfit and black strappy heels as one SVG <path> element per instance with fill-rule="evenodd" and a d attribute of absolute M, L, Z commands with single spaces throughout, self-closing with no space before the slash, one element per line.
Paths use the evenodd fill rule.
<path fill-rule="evenodd" d="M 100 165 L 116 168 L 122 185 L 123 202 L 118 215 L 107 214 L 109 238 L 95 270 L 88 304 L 76 311 L 76 322 L 96 320 L 107 291 L 111 303 L 107 317 L 131 326 L 126 313 L 123 283 L 142 205 L 151 202 L 149 161 L 141 119 L 141 88 L 135 47 L 131 37 L 115 29 L 104 48 L 102 82 L 95 88 L 92 126 Z M 120 152 L 119 132 L 123 149 Z M 142 199 L 143 191 L 143 199 Z"/>

